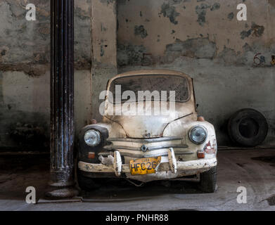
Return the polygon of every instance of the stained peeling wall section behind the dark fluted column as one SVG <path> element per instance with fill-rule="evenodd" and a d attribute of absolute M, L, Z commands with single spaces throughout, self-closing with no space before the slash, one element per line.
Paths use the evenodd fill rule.
<path fill-rule="evenodd" d="M 0 150 L 49 149 L 50 5 L 0 1 Z M 91 120 L 91 0 L 75 1 L 75 127 Z"/>

